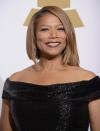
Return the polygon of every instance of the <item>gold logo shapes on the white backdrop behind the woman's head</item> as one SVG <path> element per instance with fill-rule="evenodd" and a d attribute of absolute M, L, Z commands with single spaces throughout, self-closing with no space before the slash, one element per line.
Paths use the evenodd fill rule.
<path fill-rule="evenodd" d="M 46 5 L 54 5 L 54 6 L 59 6 L 64 11 L 67 13 L 69 16 L 72 24 L 74 27 L 82 27 L 83 22 L 78 14 L 78 12 L 75 9 L 70 9 L 70 0 L 37 0 L 37 5 L 38 7 L 43 7 Z M 38 11 L 39 9 L 37 8 L 32 8 L 24 22 L 24 25 L 27 26 L 32 15 Z"/>

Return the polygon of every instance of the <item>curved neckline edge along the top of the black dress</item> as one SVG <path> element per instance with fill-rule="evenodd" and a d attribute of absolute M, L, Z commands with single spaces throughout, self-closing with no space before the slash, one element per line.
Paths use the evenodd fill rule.
<path fill-rule="evenodd" d="M 7 78 L 7 81 L 10 84 L 18 84 L 18 85 L 24 85 L 24 86 L 33 86 L 33 87 L 54 87 L 54 86 L 62 86 L 62 85 L 66 85 L 66 86 L 74 86 L 74 85 L 86 85 L 86 84 L 90 84 L 92 82 L 94 82 L 96 79 L 98 79 L 99 76 L 94 76 L 93 78 L 89 79 L 89 80 L 80 80 L 80 81 L 72 81 L 72 82 L 59 82 L 59 83 L 51 83 L 51 84 L 37 84 L 37 83 L 29 83 L 29 82 L 24 82 L 24 81 L 13 81 L 10 80 L 9 78 Z"/>

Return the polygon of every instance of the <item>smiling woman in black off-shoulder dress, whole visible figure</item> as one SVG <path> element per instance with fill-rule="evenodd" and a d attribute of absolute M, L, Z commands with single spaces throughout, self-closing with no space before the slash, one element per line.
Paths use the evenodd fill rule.
<path fill-rule="evenodd" d="M 6 79 L 1 131 L 100 131 L 100 78 L 79 66 L 66 13 L 46 6 L 32 16 L 27 53 L 35 64 Z"/>

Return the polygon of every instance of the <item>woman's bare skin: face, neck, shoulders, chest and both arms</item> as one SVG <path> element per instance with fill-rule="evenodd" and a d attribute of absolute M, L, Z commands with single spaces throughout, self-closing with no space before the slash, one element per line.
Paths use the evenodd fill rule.
<path fill-rule="evenodd" d="M 16 72 L 10 76 L 12 81 L 24 81 L 26 83 L 35 83 L 49 85 L 53 83 L 69 83 L 81 80 L 90 80 L 96 75 L 81 67 L 72 67 L 62 65 L 62 51 L 66 46 L 66 34 L 59 19 L 47 13 L 40 17 L 36 27 L 37 47 L 41 52 L 40 61 L 22 71 Z M 57 47 L 48 46 L 57 44 Z M 91 131 L 100 131 L 100 99 L 89 102 Z M 1 113 L 2 131 L 12 131 L 10 119 L 9 101 L 4 100 Z"/>

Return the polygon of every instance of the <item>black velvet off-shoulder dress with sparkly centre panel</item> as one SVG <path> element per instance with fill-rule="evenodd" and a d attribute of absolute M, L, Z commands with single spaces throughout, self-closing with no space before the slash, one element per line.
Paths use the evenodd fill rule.
<path fill-rule="evenodd" d="M 100 77 L 38 85 L 6 79 L 14 131 L 88 131 L 88 103 L 100 99 Z"/>

